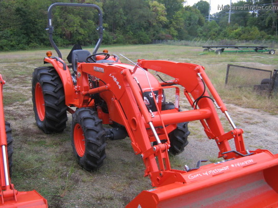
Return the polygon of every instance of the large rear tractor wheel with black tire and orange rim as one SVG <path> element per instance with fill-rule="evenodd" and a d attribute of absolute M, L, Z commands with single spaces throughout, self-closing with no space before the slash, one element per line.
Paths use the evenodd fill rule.
<path fill-rule="evenodd" d="M 47 134 L 62 132 L 66 127 L 67 106 L 63 84 L 54 67 L 34 70 L 32 96 L 37 126 Z"/>

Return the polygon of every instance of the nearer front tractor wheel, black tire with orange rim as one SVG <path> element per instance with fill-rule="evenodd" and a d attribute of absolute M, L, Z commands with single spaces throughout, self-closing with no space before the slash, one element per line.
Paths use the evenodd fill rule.
<path fill-rule="evenodd" d="M 72 146 L 79 165 L 96 170 L 106 158 L 105 131 L 98 113 L 91 108 L 77 109 L 72 121 Z"/>

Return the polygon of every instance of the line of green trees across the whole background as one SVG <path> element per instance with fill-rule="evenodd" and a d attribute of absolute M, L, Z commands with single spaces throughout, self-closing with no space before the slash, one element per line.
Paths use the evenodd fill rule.
<path fill-rule="evenodd" d="M 0 0 L 0 50 L 50 46 L 45 28 L 48 8 L 55 2 L 98 5 L 103 11 L 104 44 L 194 38 L 277 40 L 277 10 L 273 8 L 278 4 L 273 0 L 239 1 L 230 14 L 223 9 L 226 5 L 210 15 L 210 21 L 205 1 L 184 6 L 183 0 Z M 265 7 L 258 9 L 258 5 Z M 92 9 L 55 7 L 54 40 L 58 46 L 95 44 L 97 20 Z"/>

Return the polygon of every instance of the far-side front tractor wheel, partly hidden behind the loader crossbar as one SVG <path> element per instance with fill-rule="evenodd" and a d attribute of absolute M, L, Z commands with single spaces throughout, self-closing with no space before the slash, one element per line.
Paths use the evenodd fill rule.
<path fill-rule="evenodd" d="M 167 102 L 163 110 L 174 108 L 174 103 Z M 190 135 L 188 123 L 189 122 L 178 123 L 176 129 L 168 135 L 171 145 L 169 151 L 174 155 L 181 153 L 184 150 L 184 147 L 188 145 L 188 136 Z"/>

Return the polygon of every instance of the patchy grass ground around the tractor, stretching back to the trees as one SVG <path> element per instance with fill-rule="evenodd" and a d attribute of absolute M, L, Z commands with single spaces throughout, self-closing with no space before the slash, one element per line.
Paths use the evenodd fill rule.
<path fill-rule="evenodd" d="M 137 59 L 159 59 L 203 65 L 224 102 L 278 114 L 277 97 L 224 88 L 227 64 L 272 70 L 276 68 L 277 55 L 246 53 L 198 56 L 201 47 L 175 45 L 107 45 L 99 51 L 104 48 L 110 54 L 123 54 L 133 62 Z M 92 51 L 92 48 L 86 49 Z M 143 177 L 145 166 L 142 159 L 140 155 L 134 155 L 128 138 L 108 141 L 104 166 L 98 171 L 88 172 L 79 167 L 72 153 L 71 116 L 68 116 L 67 127 L 61 134 L 45 135 L 35 124 L 32 72 L 34 68 L 43 66 L 43 57 L 48 50 L 0 53 L 0 73 L 6 81 L 5 117 L 11 122 L 14 137 L 12 183 L 19 191 L 36 189 L 47 198 L 50 207 L 123 207 L 142 190 L 151 188 L 149 178 Z M 70 50 L 61 50 L 64 59 Z M 55 51 L 52 51 L 55 55 Z M 120 58 L 122 62 L 129 63 Z M 201 141 L 203 129 L 194 124 L 189 124 L 191 136 Z M 227 126 L 229 124 L 224 127 L 228 129 Z M 180 157 L 171 156 L 170 160 L 172 168 L 183 169 L 186 164 Z M 212 157 L 210 161 L 217 162 L 218 159 Z M 190 162 L 191 159 L 187 159 L 187 163 Z"/>

